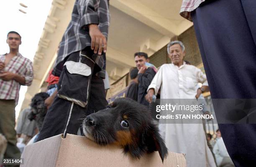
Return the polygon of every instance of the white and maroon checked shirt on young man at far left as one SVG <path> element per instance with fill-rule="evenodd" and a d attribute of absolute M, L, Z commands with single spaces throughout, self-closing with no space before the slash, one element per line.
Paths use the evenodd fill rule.
<path fill-rule="evenodd" d="M 5 62 L 5 55 L 0 55 L 0 61 Z M 12 72 L 20 76 L 25 77 L 26 86 L 31 85 L 33 80 L 33 67 L 32 62 L 23 57 L 20 53 L 14 56 L 3 71 Z M 2 100 L 15 100 L 15 104 L 18 104 L 20 91 L 20 83 L 15 80 L 5 81 L 0 78 L 0 99 Z"/>

